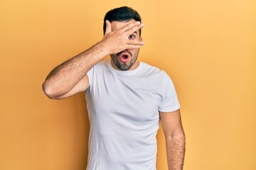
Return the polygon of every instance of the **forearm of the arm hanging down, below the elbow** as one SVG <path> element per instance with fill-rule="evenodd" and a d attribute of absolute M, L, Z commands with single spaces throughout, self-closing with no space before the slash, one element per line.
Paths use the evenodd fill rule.
<path fill-rule="evenodd" d="M 166 152 L 169 170 L 182 170 L 185 156 L 185 135 L 182 128 L 166 137 Z"/>

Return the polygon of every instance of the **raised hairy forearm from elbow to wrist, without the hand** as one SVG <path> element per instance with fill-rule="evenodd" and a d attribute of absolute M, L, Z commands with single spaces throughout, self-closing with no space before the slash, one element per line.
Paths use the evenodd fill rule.
<path fill-rule="evenodd" d="M 61 96 L 70 91 L 82 77 L 85 77 L 90 68 L 107 55 L 102 46 L 102 42 L 98 42 L 90 49 L 55 67 L 43 83 L 43 91 L 51 97 Z"/>

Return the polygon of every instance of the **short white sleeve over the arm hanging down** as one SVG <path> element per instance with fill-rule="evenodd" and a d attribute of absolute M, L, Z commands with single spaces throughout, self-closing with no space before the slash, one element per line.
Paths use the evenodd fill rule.
<path fill-rule="evenodd" d="M 168 76 L 168 74 L 165 73 L 163 82 L 163 94 L 161 104 L 159 106 L 159 111 L 176 111 L 178 108 L 180 108 L 180 104 L 178 102 L 178 96 L 176 94 L 173 81 L 171 81 L 171 78 Z"/>

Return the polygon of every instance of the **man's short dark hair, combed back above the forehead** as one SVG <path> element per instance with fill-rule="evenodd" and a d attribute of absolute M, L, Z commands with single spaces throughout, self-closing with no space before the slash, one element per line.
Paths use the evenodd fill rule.
<path fill-rule="evenodd" d="M 142 21 L 142 18 L 139 16 L 139 13 L 135 11 L 133 8 L 122 6 L 119 8 L 114 8 L 108 11 L 104 17 L 103 23 L 103 33 L 106 30 L 106 20 L 110 21 L 129 21 L 134 19 L 135 21 Z M 142 34 L 142 29 L 139 30 L 139 36 Z"/>

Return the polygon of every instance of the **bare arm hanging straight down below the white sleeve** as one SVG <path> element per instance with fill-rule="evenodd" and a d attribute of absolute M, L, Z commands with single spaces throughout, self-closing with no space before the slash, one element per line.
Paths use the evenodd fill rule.
<path fill-rule="evenodd" d="M 160 112 L 161 124 L 166 137 L 166 153 L 169 170 L 182 170 L 185 156 L 185 134 L 179 109 L 174 112 Z"/>

